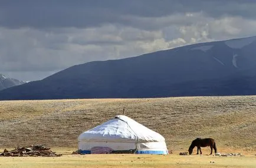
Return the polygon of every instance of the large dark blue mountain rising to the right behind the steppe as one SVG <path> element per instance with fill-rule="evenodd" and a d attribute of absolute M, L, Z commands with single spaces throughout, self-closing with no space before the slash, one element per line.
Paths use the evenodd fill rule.
<path fill-rule="evenodd" d="M 256 95 L 256 36 L 72 66 L 1 100 Z"/>

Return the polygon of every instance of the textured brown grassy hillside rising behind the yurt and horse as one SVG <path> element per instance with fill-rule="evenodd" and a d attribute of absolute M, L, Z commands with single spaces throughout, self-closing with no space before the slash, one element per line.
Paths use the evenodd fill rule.
<path fill-rule="evenodd" d="M 0 147 L 44 144 L 76 150 L 80 133 L 123 108 L 162 134 L 176 153 L 196 137 L 213 137 L 220 152 L 256 151 L 256 96 L 0 101 Z"/>

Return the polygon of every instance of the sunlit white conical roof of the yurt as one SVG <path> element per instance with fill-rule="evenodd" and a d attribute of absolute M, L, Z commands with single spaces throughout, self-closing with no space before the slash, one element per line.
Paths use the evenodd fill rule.
<path fill-rule="evenodd" d="M 165 142 L 159 133 L 148 129 L 133 119 L 119 115 L 113 119 L 87 130 L 78 137 L 78 141 L 106 142 Z"/>

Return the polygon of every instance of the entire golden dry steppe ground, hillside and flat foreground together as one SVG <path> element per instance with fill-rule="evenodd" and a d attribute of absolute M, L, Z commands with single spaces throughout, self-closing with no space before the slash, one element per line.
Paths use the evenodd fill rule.
<path fill-rule="evenodd" d="M 122 115 L 123 108 L 163 135 L 173 154 L 70 155 L 80 133 Z M 255 114 L 256 96 L 0 101 L 1 149 L 42 144 L 65 153 L 58 158 L 0 157 L 0 167 L 256 167 Z M 196 137 L 214 138 L 220 153 L 245 156 L 208 156 L 209 147 L 202 156 L 179 156 Z"/>

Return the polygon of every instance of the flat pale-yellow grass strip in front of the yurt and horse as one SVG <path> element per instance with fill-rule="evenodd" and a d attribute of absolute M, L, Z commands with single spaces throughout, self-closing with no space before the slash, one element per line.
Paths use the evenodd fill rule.
<path fill-rule="evenodd" d="M 214 163 L 212 163 L 214 162 Z M 63 157 L 0 157 L 0 167 L 251 167 L 256 164 L 255 157 L 216 157 L 137 155 L 137 154 L 88 154 L 86 156 L 65 155 Z"/>

